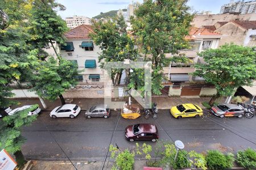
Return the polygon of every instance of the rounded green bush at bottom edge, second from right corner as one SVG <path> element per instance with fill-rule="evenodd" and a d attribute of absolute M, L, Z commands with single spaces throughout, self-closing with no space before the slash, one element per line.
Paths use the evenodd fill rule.
<path fill-rule="evenodd" d="M 207 156 L 207 167 L 213 170 L 222 170 L 233 167 L 234 155 L 229 153 L 228 155 L 222 154 L 217 150 L 209 150 Z"/>

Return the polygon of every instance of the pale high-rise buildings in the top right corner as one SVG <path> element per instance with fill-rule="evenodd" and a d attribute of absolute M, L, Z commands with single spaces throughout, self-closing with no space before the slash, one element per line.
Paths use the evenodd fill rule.
<path fill-rule="evenodd" d="M 222 5 L 220 14 L 239 12 L 241 14 L 251 14 L 256 13 L 256 0 L 254 1 L 234 1 L 231 0 L 230 3 Z"/>

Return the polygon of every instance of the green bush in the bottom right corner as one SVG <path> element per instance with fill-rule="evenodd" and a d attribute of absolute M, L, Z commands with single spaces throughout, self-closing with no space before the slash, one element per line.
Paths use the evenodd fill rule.
<path fill-rule="evenodd" d="M 246 169 L 256 169 L 256 151 L 251 148 L 238 151 L 237 163 Z"/>

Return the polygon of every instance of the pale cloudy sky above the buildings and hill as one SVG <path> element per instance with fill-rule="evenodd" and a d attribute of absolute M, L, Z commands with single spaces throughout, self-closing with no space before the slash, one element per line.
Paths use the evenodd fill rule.
<path fill-rule="evenodd" d="M 108 12 L 110 10 L 118 10 L 127 8 L 132 0 L 57 0 L 67 9 L 59 11 L 61 18 L 73 15 L 82 15 L 92 18 L 100 14 L 100 12 Z M 138 0 L 143 2 L 143 0 Z M 229 3 L 230 0 L 189 0 L 188 6 L 195 11 L 212 11 L 212 14 L 218 14 L 222 5 Z"/>

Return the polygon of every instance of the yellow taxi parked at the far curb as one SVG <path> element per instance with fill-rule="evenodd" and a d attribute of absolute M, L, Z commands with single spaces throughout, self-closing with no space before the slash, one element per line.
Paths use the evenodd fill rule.
<path fill-rule="evenodd" d="M 195 104 L 181 104 L 171 108 L 171 114 L 175 118 L 199 117 L 203 115 L 203 110 Z"/>

